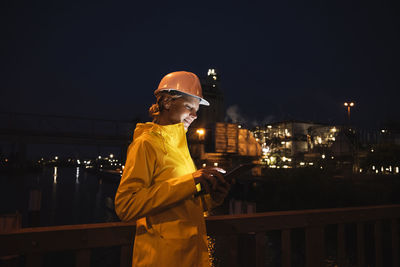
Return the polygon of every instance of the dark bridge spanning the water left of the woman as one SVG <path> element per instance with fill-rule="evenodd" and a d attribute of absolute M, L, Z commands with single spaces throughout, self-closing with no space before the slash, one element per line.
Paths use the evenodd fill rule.
<path fill-rule="evenodd" d="M 0 140 L 12 144 L 13 153 L 25 159 L 29 144 L 75 144 L 120 147 L 132 141 L 137 121 L 106 120 L 30 113 L 0 113 Z"/>

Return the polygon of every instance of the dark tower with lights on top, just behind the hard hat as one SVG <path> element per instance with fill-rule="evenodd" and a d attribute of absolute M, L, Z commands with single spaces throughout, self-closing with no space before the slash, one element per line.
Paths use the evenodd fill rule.
<path fill-rule="evenodd" d="M 210 102 L 210 106 L 200 106 L 193 127 L 205 128 L 216 122 L 223 122 L 224 113 L 224 97 L 220 89 L 220 77 L 215 69 L 209 69 L 206 77 L 200 78 L 201 87 L 203 89 L 203 97 Z"/>

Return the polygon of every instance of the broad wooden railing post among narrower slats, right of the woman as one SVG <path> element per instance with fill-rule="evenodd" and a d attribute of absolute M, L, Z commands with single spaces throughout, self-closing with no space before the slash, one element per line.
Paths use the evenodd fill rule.
<path fill-rule="evenodd" d="M 321 267 L 325 258 L 324 228 L 306 228 L 306 266 Z"/>

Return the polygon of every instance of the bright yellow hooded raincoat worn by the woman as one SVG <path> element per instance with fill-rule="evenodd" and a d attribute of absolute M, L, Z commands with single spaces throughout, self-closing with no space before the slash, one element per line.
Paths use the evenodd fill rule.
<path fill-rule="evenodd" d="M 137 124 L 115 197 L 121 220 L 137 220 L 133 266 L 210 266 L 194 171 L 182 123 Z"/>

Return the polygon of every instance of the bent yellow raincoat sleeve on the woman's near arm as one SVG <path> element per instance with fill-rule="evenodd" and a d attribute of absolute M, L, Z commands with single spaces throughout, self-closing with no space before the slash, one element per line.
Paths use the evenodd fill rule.
<path fill-rule="evenodd" d="M 154 214 L 196 192 L 192 173 L 152 183 L 156 151 L 149 141 L 137 140 L 128 156 L 115 196 L 115 211 L 122 221 Z"/>

